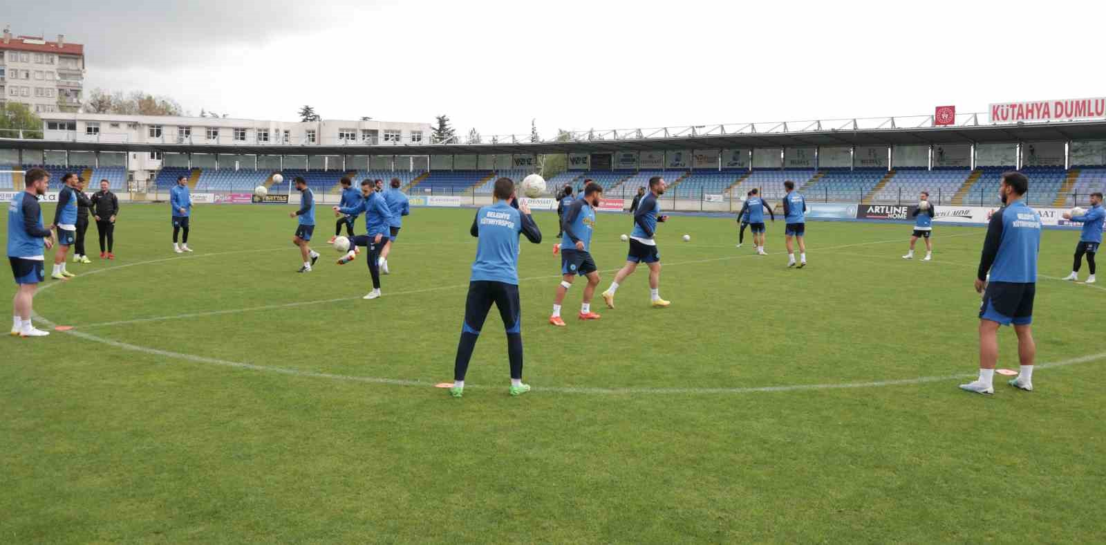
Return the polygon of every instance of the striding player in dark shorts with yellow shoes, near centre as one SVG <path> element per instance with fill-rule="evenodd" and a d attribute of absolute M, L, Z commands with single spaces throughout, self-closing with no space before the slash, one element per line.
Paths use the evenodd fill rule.
<path fill-rule="evenodd" d="M 668 216 L 660 215 L 660 203 L 657 197 L 665 194 L 665 178 L 654 176 L 649 178 L 649 193 L 641 197 L 641 202 L 634 212 L 634 230 L 629 236 L 629 254 L 626 256 L 626 265 L 615 274 L 614 281 L 606 291 L 601 294 L 607 308 L 615 308 L 615 291 L 627 276 L 633 275 L 637 269 L 637 264 L 644 263 L 649 267 L 649 297 L 654 307 L 667 307 L 671 305 L 660 298 L 660 253 L 657 251 L 655 235 L 657 223 L 668 220 Z"/>

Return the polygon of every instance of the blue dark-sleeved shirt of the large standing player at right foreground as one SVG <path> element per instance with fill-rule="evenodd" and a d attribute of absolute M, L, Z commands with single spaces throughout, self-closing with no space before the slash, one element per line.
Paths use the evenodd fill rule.
<path fill-rule="evenodd" d="M 987 226 L 977 278 L 992 282 L 1036 282 L 1041 215 L 1018 199 L 997 210 Z"/>

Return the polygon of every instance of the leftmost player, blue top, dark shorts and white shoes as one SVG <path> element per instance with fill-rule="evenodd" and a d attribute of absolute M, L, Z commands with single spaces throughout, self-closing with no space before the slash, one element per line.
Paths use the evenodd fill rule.
<path fill-rule="evenodd" d="M 8 205 L 8 261 L 15 279 L 12 299 L 11 335 L 13 337 L 45 337 L 31 323 L 34 291 L 45 280 L 44 249 L 53 247 L 51 228 L 42 225 L 39 196 L 46 194 L 50 174 L 42 168 L 27 172 L 27 189 L 17 193 Z"/>

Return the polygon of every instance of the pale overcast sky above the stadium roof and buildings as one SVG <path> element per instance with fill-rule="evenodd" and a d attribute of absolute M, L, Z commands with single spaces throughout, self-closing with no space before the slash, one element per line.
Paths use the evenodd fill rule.
<path fill-rule="evenodd" d="M 587 130 L 1106 95 L 1106 2 L 0 0 L 84 43 L 86 93 L 198 114 Z"/>

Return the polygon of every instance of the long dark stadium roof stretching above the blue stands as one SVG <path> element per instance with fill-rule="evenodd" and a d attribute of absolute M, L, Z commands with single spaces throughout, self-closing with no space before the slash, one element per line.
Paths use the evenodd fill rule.
<path fill-rule="evenodd" d="M 209 145 L 104 143 L 0 138 L 0 147 L 101 152 L 218 153 L 260 155 L 473 155 L 596 153 L 749 147 L 948 145 L 971 143 L 1106 140 L 1106 121 L 959 125 L 916 128 L 828 128 L 796 132 L 741 132 L 668 137 L 605 137 L 487 144 L 378 145 Z"/>

